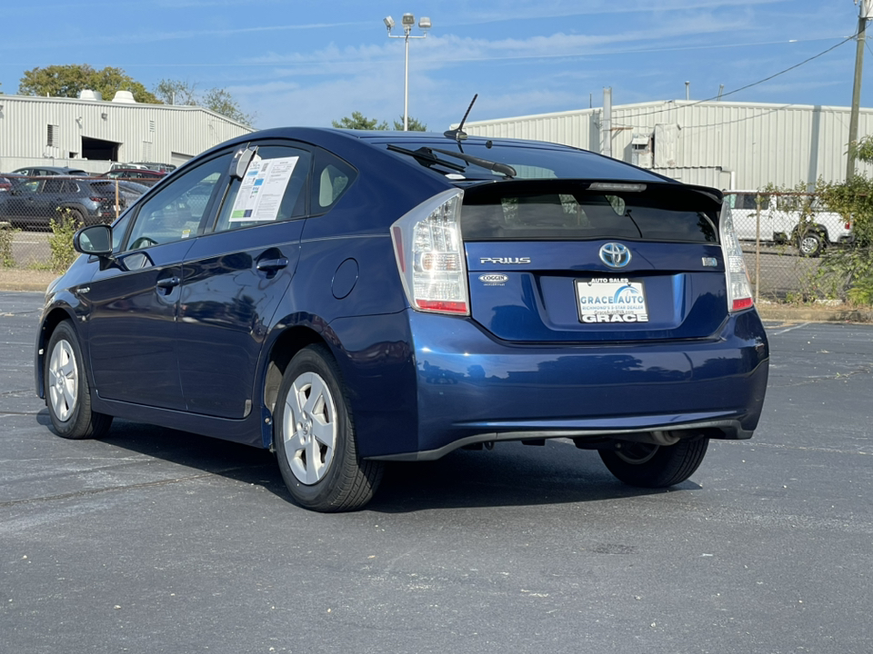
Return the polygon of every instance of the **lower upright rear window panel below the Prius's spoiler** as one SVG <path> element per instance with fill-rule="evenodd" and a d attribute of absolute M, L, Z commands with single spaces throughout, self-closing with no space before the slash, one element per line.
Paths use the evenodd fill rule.
<path fill-rule="evenodd" d="M 664 193 L 468 193 L 467 241 L 637 239 L 716 243 L 717 218 Z M 678 200 L 678 202 L 676 201 Z"/>

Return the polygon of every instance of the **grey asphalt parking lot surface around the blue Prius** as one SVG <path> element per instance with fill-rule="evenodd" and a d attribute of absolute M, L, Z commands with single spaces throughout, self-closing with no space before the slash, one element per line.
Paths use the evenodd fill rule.
<path fill-rule="evenodd" d="M 498 444 L 319 515 L 264 451 L 123 421 L 55 437 L 41 300 L 0 292 L 2 652 L 871 650 L 873 326 L 768 324 L 755 439 L 673 490 Z"/>

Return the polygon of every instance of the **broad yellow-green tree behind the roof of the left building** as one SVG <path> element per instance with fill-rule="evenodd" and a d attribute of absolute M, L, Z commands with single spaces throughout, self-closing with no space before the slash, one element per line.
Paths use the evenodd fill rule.
<path fill-rule="evenodd" d="M 117 91 L 130 91 L 136 102 L 160 104 L 143 84 L 121 68 L 112 66 L 100 70 L 88 64 L 37 66 L 25 71 L 18 84 L 18 93 L 21 95 L 78 97 L 85 89 L 99 91 L 106 100 L 111 100 Z"/>

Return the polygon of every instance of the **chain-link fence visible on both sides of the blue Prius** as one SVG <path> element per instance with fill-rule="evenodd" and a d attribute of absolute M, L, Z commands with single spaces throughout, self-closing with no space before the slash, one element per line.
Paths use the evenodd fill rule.
<path fill-rule="evenodd" d="M 0 175 L 0 268 L 58 265 L 53 240 L 68 240 L 77 224 L 111 222 L 148 187 L 148 181 L 105 177 Z M 812 193 L 736 191 L 726 193 L 726 202 L 758 301 L 828 294 L 821 256 L 851 243 L 851 225 L 843 216 L 825 210 Z"/>

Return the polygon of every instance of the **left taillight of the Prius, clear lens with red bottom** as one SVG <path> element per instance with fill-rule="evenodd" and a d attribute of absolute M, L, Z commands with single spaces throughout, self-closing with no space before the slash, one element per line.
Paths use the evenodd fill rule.
<path fill-rule="evenodd" d="M 461 190 L 444 191 L 391 225 L 403 290 L 417 311 L 469 315 L 463 198 Z"/>

